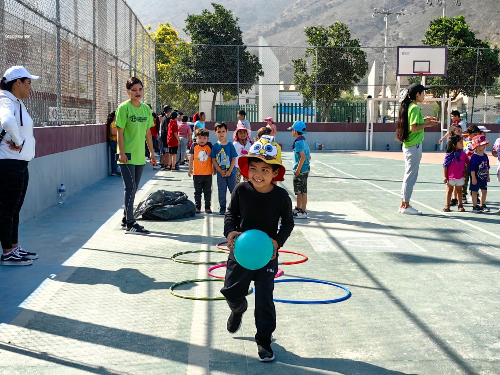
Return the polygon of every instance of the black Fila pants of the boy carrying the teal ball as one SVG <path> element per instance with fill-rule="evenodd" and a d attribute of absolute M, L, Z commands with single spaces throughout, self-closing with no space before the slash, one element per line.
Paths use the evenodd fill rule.
<path fill-rule="evenodd" d="M 250 270 L 236 261 L 227 259 L 224 287 L 220 292 L 226 298 L 232 312 L 240 314 L 246 311 L 246 294 L 250 281 L 255 285 L 255 341 L 257 344 L 270 344 L 271 333 L 276 329 L 276 310 L 272 300 L 274 276 L 278 271 L 277 258 L 270 260 L 260 269 Z"/>

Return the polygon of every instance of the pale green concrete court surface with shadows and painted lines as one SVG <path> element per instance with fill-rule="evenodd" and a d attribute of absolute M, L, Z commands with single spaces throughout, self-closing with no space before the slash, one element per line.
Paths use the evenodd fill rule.
<path fill-rule="evenodd" d="M 289 169 L 290 158 L 283 153 Z M 31 266 L 0 267 L 0 374 L 500 374 L 496 166 L 488 184 L 491 212 L 474 214 L 470 204 L 465 213 L 442 212 L 442 158 L 432 153 L 435 163 L 420 166 L 412 203 L 424 215 L 404 216 L 397 213 L 400 153 L 313 151 L 309 218 L 296 220 L 283 248 L 309 260 L 283 265 L 282 277 L 333 281 L 352 296 L 334 304 L 276 303 L 271 363 L 256 359 L 252 295 L 242 329 L 231 335 L 224 301 L 168 292 L 173 282 L 207 277 L 208 266 L 170 256 L 215 249 L 223 217 L 141 220 L 151 234 L 125 235 L 121 179 L 105 178 L 21 225 L 21 244 L 40 257 Z M 160 188 L 192 199 L 185 167 L 146 169 L 136 203 Z M 282 186 L 293 194 L 289 170 Z M 216 296 L 221 284 L 177 290 Z M 274 290 L 287 299 L 342 295 L 302 282 Z"/>

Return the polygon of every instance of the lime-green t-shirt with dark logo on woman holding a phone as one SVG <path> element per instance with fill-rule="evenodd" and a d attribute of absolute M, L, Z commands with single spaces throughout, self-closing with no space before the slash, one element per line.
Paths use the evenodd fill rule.
<path fill-rule="evenodd" d="M 154 126 L 151 108 L 144 103 L 140 107 L 134 106 L 129 100 L 122 102 L 116 109 L 116 127 L 124 129 L 123 148 L 124 152 L 130 152 L 128 164 L 144 165 L 144 140 L 146 130 Z M 120 152 L 119 145 L 116 152 Z M 118 161 L 119 164 L 122 164 Z"/>

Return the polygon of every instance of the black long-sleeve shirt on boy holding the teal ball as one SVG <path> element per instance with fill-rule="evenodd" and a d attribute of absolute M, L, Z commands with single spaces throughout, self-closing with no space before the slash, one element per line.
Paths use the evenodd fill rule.
<path fill-rule="evenodd" d="M 279 217 L 281 227 L 278 231 Z M 251 182 L 241 182 L 232 190 L 224 217 L 224 237 L 227 238 L 227 234 L 233 230 L 259 229 L 282 247 L 293 225 L 290 196 L 282 187 L 274 185 L 271 191 L 261 193 L 255 190 Z M 236 260 L 232 251 L 229 258 Z"/>

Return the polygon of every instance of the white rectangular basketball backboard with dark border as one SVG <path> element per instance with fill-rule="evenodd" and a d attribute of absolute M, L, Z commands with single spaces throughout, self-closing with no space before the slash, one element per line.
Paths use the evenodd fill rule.
<path fill-rule="evenodd" d="M 396 75 L 446 76 L 448 47 L 397 47 Z"/>

